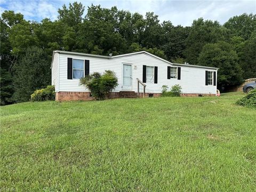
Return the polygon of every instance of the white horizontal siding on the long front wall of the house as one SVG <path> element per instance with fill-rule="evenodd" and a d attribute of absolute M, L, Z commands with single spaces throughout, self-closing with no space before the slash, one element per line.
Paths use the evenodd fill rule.
<path fill-rule="evenodd" d="M 122 91 L 122 66 L 123 63 L 132 64 L 132 90 L 137 92 L 137 79 L 142 81 L 142 66 L 157 66 L 158 67 L 158 83 L 146 83 L 147 93 L 161 93 L 162 86 L 167 85 L 171 88 L 172 85 L 179 84 L 182 87 L 182 93 L 205 93 L 215 94 L 217 86 L 205 85 L 205 70 L 217 71 L 216 69 L 207 69 L 190 66 L 175 66 L 181 67 L 181 79 L 167 79 L 167 66 L 171 66 L 162 60 L 151 57 L 148 54 L 134 54 L 125 57 L 112 59 L 95 58 L 83 55 L 60 54 L 60 87 L 59 91 L 86 91 L 85 88 L 79 85 L 79 79 L 67 79 L 67 58 L 87 59 L 90 60 L 90 74 L 94 71 L 103 73 L 106 69 L 115 71 L 118 78 L 118 86 L 115 91 Z M 135 69 L 136 66 L 136 69 Z M 140 86 L 142 91 L 142 86 Z"/>

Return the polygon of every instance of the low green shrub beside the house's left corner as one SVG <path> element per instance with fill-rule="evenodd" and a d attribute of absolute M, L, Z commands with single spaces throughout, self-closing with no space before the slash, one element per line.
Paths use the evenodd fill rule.
<path fill-rule="evenodd" d="M 45 89 L 36 90 L 31 94 L 30 101 L 55 100 L 54 85 L 48 85 Z"/>

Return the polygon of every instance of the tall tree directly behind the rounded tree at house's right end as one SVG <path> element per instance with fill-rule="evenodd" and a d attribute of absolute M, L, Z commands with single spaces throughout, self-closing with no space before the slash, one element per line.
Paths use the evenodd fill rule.
<path fill-rule="evenodd" d="M 207 43 L 216 43 L 225 40 L 226 29 L 218 21 L 194 20 L 186 39 L 185 56 L 191 65 L 197 65 L 198 55 Z"/>

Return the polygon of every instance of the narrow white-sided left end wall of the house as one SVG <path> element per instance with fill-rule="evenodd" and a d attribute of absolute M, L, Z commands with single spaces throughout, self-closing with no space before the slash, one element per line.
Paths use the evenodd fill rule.
<path fill-rule="evenodd" d="M 59 91 L 59 53 L 54 53 L 52 61 L 52 85 L 55 86 L 55 92 Z"/>

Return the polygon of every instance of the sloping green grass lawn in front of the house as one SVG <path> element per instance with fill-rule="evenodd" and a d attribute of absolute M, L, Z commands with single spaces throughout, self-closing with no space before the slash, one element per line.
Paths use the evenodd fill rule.
<path fill-rule="evenodd" d="M 242 96 L 1 107 L 0 190 L 255 191 L 256 109 Z"/>

